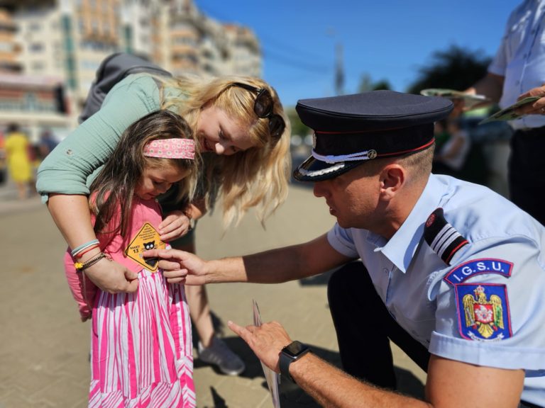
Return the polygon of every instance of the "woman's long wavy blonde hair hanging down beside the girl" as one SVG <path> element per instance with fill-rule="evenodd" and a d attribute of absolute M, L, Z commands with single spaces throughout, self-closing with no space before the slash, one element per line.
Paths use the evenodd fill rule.
<path fill-rule="evenodd" d="M 221 196 L 224 226 L 238 223 L 249 208 L 255 207 L 263 225 L 287 197 L 291 174 L 290 122 L 275 89 L 262 79 L 254 77 L 201 77 L 161 78 L 163 81 L 162 106 L 182 115 L 195 131 L 204 106 L 220 108 L 243 128 L 248 128 L 254 147 L 231 156 L 209 157 L 202 184 L 207 208 L 214 207 L 216 195 Z M 280 138 L 269 132 L 268 118 L 258 118 L 253 111 L 256 94 L 239 86 L 239 82 L 255 88 L 265 88 L 274 101 L 273 113 L 282 116 L 286 127 Z M 177 91 L 177 92 L 172 92 Z M 178 94 L 179 93 L 179 94 Z M 177 94 L 172 96 L 172 94 Z M 198 139 L 198 135 L 195 135 Z"/>

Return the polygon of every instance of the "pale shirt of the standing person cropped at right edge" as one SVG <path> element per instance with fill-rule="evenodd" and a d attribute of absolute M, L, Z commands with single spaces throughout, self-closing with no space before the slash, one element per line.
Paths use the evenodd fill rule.
<path fill-rule="evenodd" d="M 505 108 L 545 84 L 545 0 L 526 0 L 511 13 L 500 48 L 488 72 L 505 77 L 500 106 Z M 510 121 L 514 129 L 545 126 L 544 115 Z"/>

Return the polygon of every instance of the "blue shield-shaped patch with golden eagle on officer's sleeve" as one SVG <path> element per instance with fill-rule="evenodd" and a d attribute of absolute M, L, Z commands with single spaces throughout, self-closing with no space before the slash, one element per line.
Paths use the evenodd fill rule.
<path fill-rule="evenodd" d="M 505 285 L 455 285 L 458 329 L 464 339 L 500 341 L 512 336 Z"/>

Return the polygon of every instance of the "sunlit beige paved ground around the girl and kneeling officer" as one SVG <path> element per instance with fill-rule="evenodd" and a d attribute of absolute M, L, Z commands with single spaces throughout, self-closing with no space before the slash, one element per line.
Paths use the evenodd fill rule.
<path fill-rule="evenodd" d="M 323 199 L 314 198 L 312 189 L 294 185 L 266 230 L 251 214 L 222 237 L 219 212 L 205 217 L 197 229 L 197 253 L 205 259 L 250 254 L 304 242 L 326 232 L 333 223 Z M 6 186 L 0 187 L 0 232 L 0 408 L 86 407 L 89 324 L 79 322 L 62 273 L 65 242 L 39 198 L 18 202 Z M 219 322 L 231 319 L 250 324 L 255 299 L 264 321 L 282 322 L 292 338 L 310 344 L 316 353 L 338 365 L 326 278 L 280 285 L 209 285 L 209 300 Z M 272 407 L 257 358 L 226 327 L 222 335 L 241 354 L 247 370 L 240 377 L 229 377 L 196 359 L 198 407 Z M 402 390 L 421 395 L 422 370 L 397 349 L 395 363 Z M 297 386 L 282 384 L 280 389 L 282 408 L 318 406 Z"/>

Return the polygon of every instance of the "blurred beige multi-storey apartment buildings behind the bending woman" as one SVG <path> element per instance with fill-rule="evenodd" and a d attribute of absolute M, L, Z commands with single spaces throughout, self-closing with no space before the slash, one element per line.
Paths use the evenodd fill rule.
<path fill-rule="evenodd" d="M 51 87 L 53 99 L 57 98 L 53 105 L 64 102 L 67 106 L 67 114 L 57 112 L 65 118 L 60 125 L 65 130 L 57 133 L 77 125 L 77 114 L 95 72 L 112 52 L 143 55 L 175 75 L 261 74 L 260 45 L 253 31 L 209 18 L 192 0 L 4 3 L 4 14 L 0 12 L 0 69 L 5 66 L 11 67 L 12 74 L 18 72 L 21 89 L 27 94 L 32 84 Z M 10 77 L 10 81 L 16 79 Z M 64 86 L 63 92 L 58 84 Z M 0 86 L 4 87 L 1 77 Z M 3 118 L 16 118 L 9 110 L 11 105 L 3 104 L 2 98 L 0 94 L 0 129 L 5 125 Z M 40 124 L 33 126 L 39 128 Z"/>

